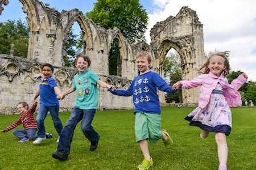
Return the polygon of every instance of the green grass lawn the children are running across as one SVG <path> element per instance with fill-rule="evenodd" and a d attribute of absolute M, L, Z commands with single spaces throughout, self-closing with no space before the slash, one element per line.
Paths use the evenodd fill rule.
<path fill-rule="evenodd" d="M 194 108 L 162 108 L 162 128 L 174 139 L 171 150 L 160 140 L 149 145 L 154 160 L 151 169 L 217 169 L 217 146 L 214 134 L 203 140 L 200 130 L 184 120 Z M 256 108 L 232 108 L 233 128 L 227 137 L 229 169 L 256 169 Z M 70 113 L 60 113 L 65 125 Z M 5 129 L 19 115 L 0 116 L 0 129 Z M 51 116 L 47 116 L 46 131 L 53 134 L 40 145 L 19 143 L 12 134 L 0 133 L 0 169 L 136 169 L 143 155 L 135 142 L 133 111 L 97 111 L 94 129 L 101 135 L 97 150 L 90 152 L 90 142 L 77 125 L 71 154 L 65 162 L 53 159 L 57 148 L 57 133 Z M 18 126 L 16 129 L 22 129 Z"/>

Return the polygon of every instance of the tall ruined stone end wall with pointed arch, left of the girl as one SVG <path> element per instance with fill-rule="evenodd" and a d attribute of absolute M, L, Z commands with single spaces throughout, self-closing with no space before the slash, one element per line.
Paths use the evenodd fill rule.
<path fill-rule="evenodd" d="M 199 22 L 196 11 L 187 6 L 180 9 L 173 17 L 156 23 L 150 31 L 151 47 L 158 61 L 157 72 L 163 76 L 163 61 L 171 48 L 181 58 L 182 79 L 189 80 L 198 74 L 196 67 L 202 65 L 204 57 L 203 24 Z M 199 89 L 194 88 L 183 92 L 183 103 L 195 105 Z"/>

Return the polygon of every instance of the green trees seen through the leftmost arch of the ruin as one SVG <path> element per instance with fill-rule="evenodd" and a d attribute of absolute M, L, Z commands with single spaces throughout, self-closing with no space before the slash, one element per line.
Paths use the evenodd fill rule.
<path fill-rule="evenodd" d="M 21 19 L 0 23 L 0 53 L 10 54 L 14 44 L 14 56 L 27 58 L 29 27 Z"/>

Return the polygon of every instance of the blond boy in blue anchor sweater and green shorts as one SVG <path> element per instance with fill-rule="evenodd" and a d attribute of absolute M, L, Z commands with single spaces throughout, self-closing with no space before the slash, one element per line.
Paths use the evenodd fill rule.
<path fill-rule="evenodd" d="M 158 73 L 149 70 L 151 55 L 147 52 L 140 52 L 136 57 L 139 75 L 134 78 L 127 90 L 116 90 L 110 88 L 110 92 L 119 96 L 133 95 L 135 105 L 135 138 L 141 147 L 144 160 L 138 165 L 138 169 L 148 169 L 153 160 L 148 151 L 147 139 L 153 144 L 163 139 L 166 148 L 171 148 L 172 139 L 166 130 L 161 130 L 161 110 L 157 90 L 174 93 L 171 86 L 161 78 Z"/>

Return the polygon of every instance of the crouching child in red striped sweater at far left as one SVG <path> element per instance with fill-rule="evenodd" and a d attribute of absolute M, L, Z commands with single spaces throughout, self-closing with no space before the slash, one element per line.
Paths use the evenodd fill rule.
<path fill-rule="evenodd" d="M 16 120 L 13 124 L 11 124 L 8 128 L 4 130 L 0 130 L 1 132 L 7 132 L 11 129 L 16 128 L 16 126 L 23 125 L 24 129 L 17 129 L 13 131 L 15 137 L 19 138 L 19 142 L 27 142 L 34 141 L 38 136 L 36 135 L 36 130 L 38 130 L 38 126 L 36 125 L 36 121 L 34 118 L 34 113 L 36 109 L 36 105 L 38 103 L 35 102 L 30 109 L 28 109 L 28 104 L 26 102 L 19 102 L 16 105 L 16 109 L 21 114 L 21 116 Z M 46 133 L 47 138 L 51 138 L 52 134 Z"/>

